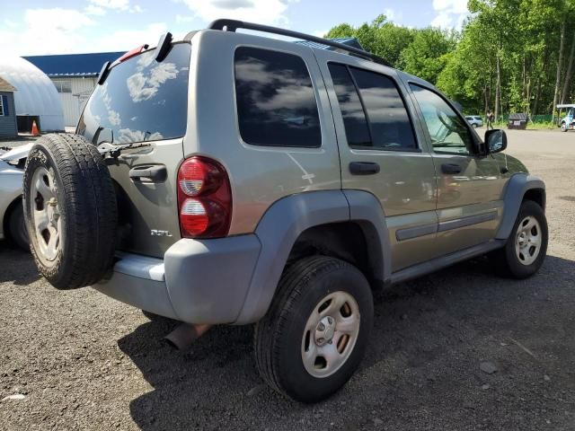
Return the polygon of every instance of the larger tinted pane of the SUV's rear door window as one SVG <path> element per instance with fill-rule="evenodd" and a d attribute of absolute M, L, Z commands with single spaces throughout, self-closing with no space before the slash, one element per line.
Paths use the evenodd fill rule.
<path fill-rule="evenodd" d="M 367 70 L 349 70 L 367 110 L 372 146 L 383 150 L 417 148 L 410 117 L 394 81 Z"/>

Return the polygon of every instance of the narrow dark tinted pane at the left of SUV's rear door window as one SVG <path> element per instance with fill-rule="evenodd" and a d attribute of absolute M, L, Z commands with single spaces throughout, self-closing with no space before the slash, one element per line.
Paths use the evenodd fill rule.
<path fill-rule="evenodd" d="M 345 135 L 349 146 L 371 146 L 371 137 L 367 127 L 366 113 L 359 101 L 348 68 L 330 63 L 333 87 L 340 103 L 341 117 L 345 126 Z"/>

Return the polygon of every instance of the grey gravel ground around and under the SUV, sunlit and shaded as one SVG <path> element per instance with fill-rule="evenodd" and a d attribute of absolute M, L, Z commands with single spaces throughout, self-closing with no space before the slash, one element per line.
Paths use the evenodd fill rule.
<path fill-rule="evenodd" d="M 575 429 L 575 134 L 509 141 L 547 183 L 540 273 L 501 279 L 475 259 L 378 294 L 360 370 L 314 406 L 261 383 L 251 327 L 174 351 L 172 321 L 91 289 L 58 292 L 0 243 L 0 400 L 25 397 L 0 401 L 0 428 Z"/>

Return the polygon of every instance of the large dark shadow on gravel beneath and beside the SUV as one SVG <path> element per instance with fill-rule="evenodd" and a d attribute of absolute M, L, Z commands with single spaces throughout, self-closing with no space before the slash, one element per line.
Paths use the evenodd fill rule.
<path fill-rule="evenodd" d="M 261 382 L 250 326 L 212 328 L 178 352 L 163 340 L 176 322 L 145 323 L 119 340 L 153 387 L 130 402 L 130 414 L 143 430 L 535 427 L 542 403 L 557 402 L 543 374 L 558 375 L 557 392 L 574 382 L 575 375 L 565 374 L 575 356 L 574 301 L 564 298 L 575 262 L 548 257 L 537 276 L 521 281 L 491 269 L 487 259 L 474 259 L 377 293 L 372 340 L 358 373 L 314 406 Z M 550 355 L 544 364 L 541 352 Z M 499 374 L 480 371 L 486 358 Z M 490 385 L 491 392 L 482 390 Z M 521 391 L 523 398 L 515 395 Z M 555 425 L 569 419 L 562 412 L 557 418 Z"/>

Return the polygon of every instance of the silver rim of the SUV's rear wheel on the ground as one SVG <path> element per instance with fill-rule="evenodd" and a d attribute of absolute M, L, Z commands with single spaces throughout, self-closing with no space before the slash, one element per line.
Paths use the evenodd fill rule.
<path fill-rule="evenodd" d="M 359 334 L 359 307 L 353 296 L 339 291 L 326 295 L 305 323 L 302 360 L 314 377 L 328 377 L 349 359 Z"/>

